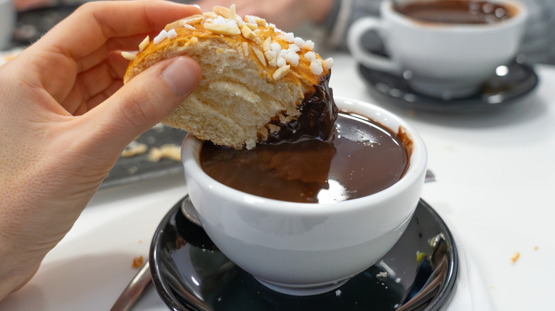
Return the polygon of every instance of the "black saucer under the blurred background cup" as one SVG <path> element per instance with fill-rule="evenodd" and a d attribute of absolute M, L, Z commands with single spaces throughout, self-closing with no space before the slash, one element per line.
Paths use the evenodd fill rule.
<path fill-rule="evenodd" d="M 447 100 L 413 91 L 401 75 L 359 65 L 359 72 L 370 92 L 384 102 L 415 111 L 440 113 L 481 112 L 507 107 L 529 94 L 538 84 L 538 76 L 529 65 L 514 60 L 507 69 L 507 72 L 500 70 L 499 73 L 504 75 L 493 75 L 476 94 Z"/>

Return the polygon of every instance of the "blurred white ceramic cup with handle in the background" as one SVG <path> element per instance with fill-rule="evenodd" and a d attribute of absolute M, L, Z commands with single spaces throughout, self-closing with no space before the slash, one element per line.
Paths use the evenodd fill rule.
<path fill-rule="evenodd" d="M 368 16 L 353 23 L 347 45 L 356 61 L 403 75 L 417 92 L 443 99 L 465 97 L 477 92 L 498 66 L 514 59 L 524 33 L 524 4 L 514 0 L 490 2 L 507 7 L 514 15 L 497 23 L 423 22 L 404 16 L 386 0 L 380 6 L 379 18 Z M 361 40 L 369 31 L 376 31 L 383 40 L 388 58 L 363 48 Z"/>

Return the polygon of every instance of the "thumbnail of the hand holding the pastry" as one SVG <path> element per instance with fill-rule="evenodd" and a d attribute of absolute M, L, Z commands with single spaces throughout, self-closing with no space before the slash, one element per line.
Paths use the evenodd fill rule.
<path fill-rule="evenodd" d="M 177 96 L 183 96 L 198 84 L 199 72 L 189 58 L 176 58 L 162 71 L 162 77 L 168 82 Z"/>

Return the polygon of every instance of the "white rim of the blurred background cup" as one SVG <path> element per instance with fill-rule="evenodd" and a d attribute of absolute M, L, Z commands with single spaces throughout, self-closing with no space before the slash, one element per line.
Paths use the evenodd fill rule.
<path fill-rule="evenodd" d="M 415 21 L 413 18 L 408 18 L 404 16 L 402 13 L 393 9 L 393 1 L 386 0 L 381 3 L 380 12 L 383 16 L 391 16 L 394 21 L 400 23 L 404 26 L 411 26 L 426 30 L 433 30 L 438 32 L 453 32 L 453 31 L 498 31 L 500 28 L 508 28 L 510 26 L 514 26 L 515 24 L 524 23 L 528 16 L 528 8 L 527 6 L 522 3 L 521 1 L 516 0 L 485 0 L 492 3 L 499 3 L 499 4 L 509 4 L 510 6 L 514 6 L 517 8 L 517 13 L 508 18 L 505 21 L 499 21 L 498 23 L 486 23 L 486 24 L 464 24 L 464 23 L 425 23 Z"/>

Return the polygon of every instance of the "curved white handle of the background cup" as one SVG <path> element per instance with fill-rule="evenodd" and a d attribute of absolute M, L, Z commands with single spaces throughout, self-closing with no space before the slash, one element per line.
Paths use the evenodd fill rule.
<path fill-rule="evenodd" d="M 379 18 L 371 16 L 359 18 L 349 28 L 347 47 L 353 58 L 366 67 L 391 73 L 401 72 L 401 67 L 398 63 L 393 62 L 390 58 L 371 53 L 361 45 L 364 33 L 371 30 L 381 31 L 381 29 L 383 29 L 383 26 Z"/>

